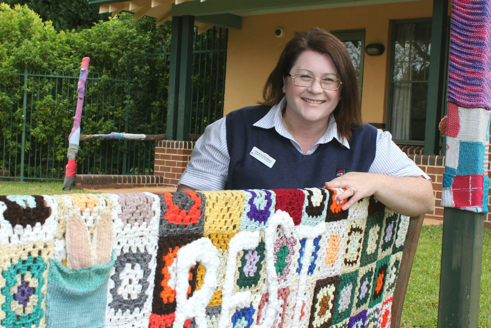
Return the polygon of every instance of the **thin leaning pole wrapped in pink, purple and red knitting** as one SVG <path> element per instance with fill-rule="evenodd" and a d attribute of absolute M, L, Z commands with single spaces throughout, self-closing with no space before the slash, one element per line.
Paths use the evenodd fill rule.
<path fill-rule="evenodd" d="M 63 190 L 70 190 L 75 185 L 75 173 L 77 172 L 77 162 L 75 156 L 79 152 L 80 142 L 80 121 L 82 119 L 82 106 L 83 97 L 85 96 L 85 82 L 87 81 L 87 75 L 89 72 L 90 58 L 82 58 L 82 66 L 80 68 L 79 84 L 77 86 L 77 109 L 75 111 L 75 117 L 73 118 L 73 127 L 70 135 L 68 136 L 68 164 L 65 167 L 65 179 L 63 181 Z"/>

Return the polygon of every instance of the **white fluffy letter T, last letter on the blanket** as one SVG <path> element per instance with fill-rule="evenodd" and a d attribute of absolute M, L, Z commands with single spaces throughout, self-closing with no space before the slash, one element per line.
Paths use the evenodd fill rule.
<path fill-rule="evenodd" d="M 300 270 L 299 277 L 299 289 L 297 291 L 297 303 L 295 304 L 295 312 L 292 318 L 292 328 L 298 328 L 300 324 L 300 310 L 302 308 L 302 302 L 305 301 L 305 286 L 307 283 L 307 272 L 310 266 L 312 253 L 314 252 L 314 239 L 318 236 L 322 236 L 326 231 L 326 224 L 324 222 L 316 225 L 315 227 L 309 227 L 300 225 L 299 239 L 305 240 L 305 248 L 302 256 L 302 268 Z"/>

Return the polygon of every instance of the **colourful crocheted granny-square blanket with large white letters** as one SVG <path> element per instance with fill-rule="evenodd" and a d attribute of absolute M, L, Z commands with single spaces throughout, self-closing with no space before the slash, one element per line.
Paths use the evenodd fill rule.
<path fill-rule="evenodd" d="M 389 327 L 409 217 L 341 191 L 0 196 L 0 326 Z"/>

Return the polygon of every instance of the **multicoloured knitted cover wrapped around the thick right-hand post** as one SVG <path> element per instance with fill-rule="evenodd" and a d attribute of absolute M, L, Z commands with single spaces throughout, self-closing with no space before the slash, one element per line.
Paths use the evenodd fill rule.
<path fill-rule="evenodd" d="M 488 212 L 491 4 L 452 0 L 447 136 L 441 205 Z"/>

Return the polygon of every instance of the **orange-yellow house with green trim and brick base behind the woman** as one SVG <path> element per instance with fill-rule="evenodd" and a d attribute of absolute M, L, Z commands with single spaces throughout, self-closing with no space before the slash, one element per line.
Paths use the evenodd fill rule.
<path fill-rule="evenodd" d="M 169 111 L 167 133 L 170 139 L 181 141 L 160 143 L 156 162 L 157 156 L 167 158 L 165 149 L 169 147 L 177 148 L 170 151 L 177 151 L 182 162 L 173 170 L 156 163 L 156 174 L 161 170 L 168 184 L 177 182 L 192 149 L 191 142 L 182 141 L 187 139 L 189 116 L 178 114 L 186 113 L 183 77 L 190 75 L 186 60 L 194 24 L 201 29 L 207 24 L 229 29 L 224 115 L 260 101 L 284 44 L 295 32 L 320 27 L 332 31 L 349 49 L 358 70 L 362 119 L 390 131 L 394 141 L 430 175 L 436 208 L 427 218 L 442 219 L 439 203 L 444 156 L 438 122 L 446 106 L 448 0 L 89 2 L 98 4 L 101 12 L 127 10 L 135 12 L 136 19 L 141 15 L 156 17 L 157 24 L 172 19 L 172 31 L 178 37 L 172 38 L 171 48 L 178 55 L 173 59 L 175 73 L 169 85 L 173 92 L 169 108 L 174 111 Z M 491 221 L 485 225 L 490 227 Z"/>

